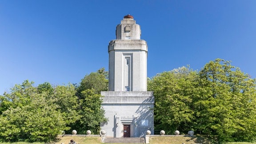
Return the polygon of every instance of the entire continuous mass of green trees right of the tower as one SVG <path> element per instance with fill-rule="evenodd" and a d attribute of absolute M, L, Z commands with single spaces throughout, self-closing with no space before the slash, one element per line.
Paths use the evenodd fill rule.
<path fill-rule="evenodd" d="M 155 126 L 217 135 L 220 141 L 254 141 L 256 80 L 230 61 L 216 59 L 199 72 L 162 72 L 148 82 L 155 95 Z"/>

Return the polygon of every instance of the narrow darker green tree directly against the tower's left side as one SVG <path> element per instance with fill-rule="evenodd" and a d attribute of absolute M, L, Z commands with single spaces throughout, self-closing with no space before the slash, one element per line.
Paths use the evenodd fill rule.
<path fill-rule="evenodd" d="M 108 90 L 108 72 L 101 68 L 97 72 L 92 72 L 84 76 L 78 86 L 77 96 L 79 97 L 79 115 L 81 118 L 75 124 L 70 125 L 76 129 L 77 133 L 85 134 L 87 130 L 98 134 L 100 132 L 100 123 L 106 122 L 100 91 Z"/>

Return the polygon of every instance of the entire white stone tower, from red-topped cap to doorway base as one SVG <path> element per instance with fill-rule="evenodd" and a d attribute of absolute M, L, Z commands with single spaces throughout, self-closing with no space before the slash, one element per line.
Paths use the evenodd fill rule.
<path fill-rule="evenodd" d="M 140 25 L 127 15 L 116 26 L 116 40 L 108 45 L 109 91 L 101 92 L 109 120 L 101 129 L 108 136 L 140 137 L 147 130 L 154 134 L 155 101 L 153 92 L 147 91 L 148 46 L 140 35 Z"/>

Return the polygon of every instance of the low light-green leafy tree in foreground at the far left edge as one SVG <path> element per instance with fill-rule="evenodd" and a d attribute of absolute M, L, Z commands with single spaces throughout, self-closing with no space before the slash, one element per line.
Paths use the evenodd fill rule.
<path fill-rule="evenodd" d="M 10 108 L 0 117 L 0 138 L 4 141 L 51 141 L 68 129 L 57 105 L 36 95 L 30 104 Z"/>

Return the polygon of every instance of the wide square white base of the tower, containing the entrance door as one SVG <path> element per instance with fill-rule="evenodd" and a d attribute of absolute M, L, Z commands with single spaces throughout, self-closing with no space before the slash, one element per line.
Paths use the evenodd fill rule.
<path fill-rule="evenodd" d="M 107 136 L 141 137 L 147 130 L 154 133 L 153 92 L 101 92 L 101 104 L 108 117 L 102 125 Z"/>

